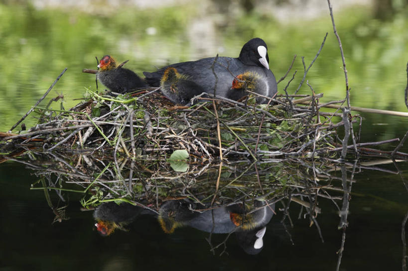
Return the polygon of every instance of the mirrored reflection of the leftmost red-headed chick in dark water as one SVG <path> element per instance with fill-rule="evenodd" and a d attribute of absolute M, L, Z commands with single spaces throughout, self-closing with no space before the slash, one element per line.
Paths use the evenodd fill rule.
<path fill-rule="evenodd" d="M 121 229 L 126 231 L 126 226 L 142 214 L 154 214 L 154 212 L 129 203 L 118 205 L 115 202 L 102 203 L 95 209 L 95 227 L 103 236 L 108 236 Z"/>

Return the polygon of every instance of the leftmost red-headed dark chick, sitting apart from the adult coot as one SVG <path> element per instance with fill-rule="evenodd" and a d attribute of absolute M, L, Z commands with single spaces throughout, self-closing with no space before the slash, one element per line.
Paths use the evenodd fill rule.
<path fill-rule="evenodd" d="M 111 91 L 119 93 L 147 86 L 134 72 L 122 66 L 121 64 L 116 67 L 116 61 L 112 57 L 104 56 L 98 65 L 101 69 L 97 74 L 99 81 Z"/>

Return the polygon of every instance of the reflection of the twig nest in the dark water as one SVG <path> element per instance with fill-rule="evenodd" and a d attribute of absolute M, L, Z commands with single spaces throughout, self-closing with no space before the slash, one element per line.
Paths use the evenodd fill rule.
<path fill-rule="evenodd" d="M 245 204 L 251 213 L 280 201 L 287 213 L 289 202 L 293 201 L 305 207 L 314 220 L 320 213 L 318 198 L 335 201 L 339 199 L 338 192 L 343 190 L 336 181 L 339 178 L 331 174 L 336 164 L 329 161 L 320 165 L 301 160 L 251 165 L 190 165 L 188 172 L 177 174 L 168 164 L 146 167 L 123 160 L 117 168 L 114 163 L 97 157 L 91 161 L 85 155 L 64 158 L 33 152 L 30 156 L 35 159 L 25 163 L 43 181 L 41 187 L 34 185 L 32 189 L 54 189 L 63 200 L 66 192 L 83 193 L 81 203 L 85 208 L 116 201 L 158 213 L 168 200 L 188 199 L 198 204 L 199 207 L 192 209 L 197 212 Z M 81 163 L 83 161 L 89 164 Z M 75 167 L 75 164 L 82 166 Z M 255 206 L 254 200 L 263 204 Z"/>

